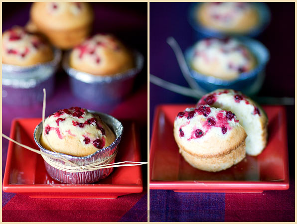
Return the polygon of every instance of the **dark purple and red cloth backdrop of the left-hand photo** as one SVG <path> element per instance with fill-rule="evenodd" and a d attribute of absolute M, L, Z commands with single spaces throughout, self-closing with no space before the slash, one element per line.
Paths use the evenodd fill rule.
<path fill-rule="evenodd" d="M 2 3 L 2 31 L 12 25 L 25 25 L 31 3 Z M 145 56 L 145 66 L 136 78 L 130 96 L 118 105 L 96 106 L 74 98 L 70 93 L 68 77 L 60 69 L 56 74 L 55 93 L 47 101 L 46 115 L 63 108 L 78 106 L 109 113 L 118 119 L 137 122 L 141 131 L 142 161 L 147 161 L 147 2 L 92 3 L 95 12 L 93 33 L 111 32 L 127 45 Z M 11 107 L 2 105 L 2 132 L 9 135 L 13 118 L 41 117 L 42 105 Z M 2 138 L 2 178 L 5 170 L 8 141 Z M 2 221 L 6 222 L 146 222 L 147 221 L 147 166 L 142 166 L 144 192 L 118 199 L 32 199 L 28 196 L 2 192 Z M 91 206 L 92 205 L 92 206 Z M 61 209 L 57 209 L 61 206 Z M 75 207 L 77 206 L 77 207 Z M 77 210 L 81 208 L 81 210 Z M 105 208 L 110 208 L 105 210 Z"/>

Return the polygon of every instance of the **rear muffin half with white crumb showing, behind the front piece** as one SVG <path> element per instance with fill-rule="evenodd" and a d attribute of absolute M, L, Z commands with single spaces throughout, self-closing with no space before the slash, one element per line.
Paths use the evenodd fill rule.
<path fill-rule="evenodd" d="M 201 105 L 210 105 L 235 113 L 248 135 L 246 138 L 247 154 L 257 156 L 264 150 L 267 144 L 268 117 L 252 99 L 239 91 L 219 89 L 203 96 L 197 107 Z"/>

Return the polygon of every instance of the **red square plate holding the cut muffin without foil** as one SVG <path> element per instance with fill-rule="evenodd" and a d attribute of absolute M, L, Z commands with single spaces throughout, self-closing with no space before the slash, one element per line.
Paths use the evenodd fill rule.
<path fill-rule="evenodd" d="M 259 156 L 247 156 L 231 168 L 212 173 L 190 166 L 178 153 L 173 137 L 176 114 L 194 105 L 161 105 L 155 110 L 149 154 L 149 189 L 176 192 L 244 193 L 289 189 L 286 111 L 264 106 L 268 144 Z"/>

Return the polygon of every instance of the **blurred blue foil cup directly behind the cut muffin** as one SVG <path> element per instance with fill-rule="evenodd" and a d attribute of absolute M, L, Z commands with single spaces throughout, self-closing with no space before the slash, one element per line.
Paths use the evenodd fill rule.
<path fill-rule="evenodd" d="M 190 70 L 191 77 L 206 92 L 211 92 L 220 88 L 239 90 L 247 95 L 255 95 L 259 92 L 264 82 L 265 68 L 270 58 L 269 51 L 262 43 L 257 40 L 247 37 L 238 37 L 236 39 L 243 43 L 243 45 L 245 45 L 256 57 L 257 66 L 249 72 L 240 74 L 239 77 L 234 80 L 219 79 L 197 72 L 196 70 L 192 69 L 191 66 L 191 60 L 195 50 L 194 46 L 188 48 L 185 51 L 185 60 Z"/>

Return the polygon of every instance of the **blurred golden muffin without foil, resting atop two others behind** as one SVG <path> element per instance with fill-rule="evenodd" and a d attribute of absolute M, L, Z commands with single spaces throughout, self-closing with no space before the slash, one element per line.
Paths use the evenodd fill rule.
<path fill-rule="evenodd" d="M 37 30 L 62 49 L 74 47 L 89 35 L 93 17 L 87 2 L 34 2 L 30 11 Z"/>

